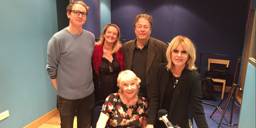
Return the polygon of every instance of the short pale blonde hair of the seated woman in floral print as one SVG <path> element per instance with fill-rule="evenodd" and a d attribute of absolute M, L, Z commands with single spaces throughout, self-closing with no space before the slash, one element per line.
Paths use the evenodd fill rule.
<path fill-rule="evenodd" d="M 123 90 L 121 89 L 121 86 L 122 86 L 123 82 L 129 82 L 129 81 L 132 81 L 132 80 L 135 81 L 135 84 L 137 86 L 136 94 L 138 94 L 141 79 L 139 77 L 137 77 L 136 74 L 133 73 L 133 71 L 131 71 L 131 70 L 125 70 L 125 71 L 121 71 L 119 73 L 118 78 L 117 78 L 117 86 L 119 87 L 118 93 L 120 93 L 120 94 L 123 93 Z"/>

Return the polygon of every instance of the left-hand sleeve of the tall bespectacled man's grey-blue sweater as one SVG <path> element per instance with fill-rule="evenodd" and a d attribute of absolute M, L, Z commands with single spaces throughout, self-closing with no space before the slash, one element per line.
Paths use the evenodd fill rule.
<path fill-rule="evenodd" d="M 57 68 L 60 57 L 60 47 L 59 42 L 55 36 L 49 40 L 47 45 L 47 56 L 48 56 L 48 64 L 46 65 L 46 70 L 51 79 L 57 78 Z"/>

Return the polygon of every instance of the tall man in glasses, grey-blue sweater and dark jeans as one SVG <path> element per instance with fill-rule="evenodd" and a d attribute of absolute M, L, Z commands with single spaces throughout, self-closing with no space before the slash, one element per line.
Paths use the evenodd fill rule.
<path fill-rule="evenodd" d="M 61 128 L 73 127 L 75 111 L 77 127 L 89 128 L 91 124 L 95 103 L 91 65 L 95 37 L 82 29 L 88 9 L 82 1 L 68 5 L 69 26 L 54 34 L 47 46 L 46 70 L 57 90 Z"/>

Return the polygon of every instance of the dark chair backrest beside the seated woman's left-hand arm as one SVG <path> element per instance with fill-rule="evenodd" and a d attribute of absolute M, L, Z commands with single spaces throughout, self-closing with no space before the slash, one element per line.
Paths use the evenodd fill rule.
<path fill-rule="evenodd" d="M 102 110 L 102 105 L 104 104 L 105 100 L 98 101 L 93 106 L 92 111 L 92 128 L 96 128 L 96 124 L 98 122 L 98 119 L 100 117 L 100 112 Z"/>

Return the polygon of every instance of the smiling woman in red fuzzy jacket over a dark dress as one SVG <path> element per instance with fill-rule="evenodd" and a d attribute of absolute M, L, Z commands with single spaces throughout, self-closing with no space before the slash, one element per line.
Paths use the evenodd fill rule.
<path fill-rule="evenodd" d="M 92 55 L 95 102 L 105 100 L 118 92 L 117 77 L 124 69 L 123 52 L 119 41 L 120 30 L 115 24 L 107 24 Z"/>

